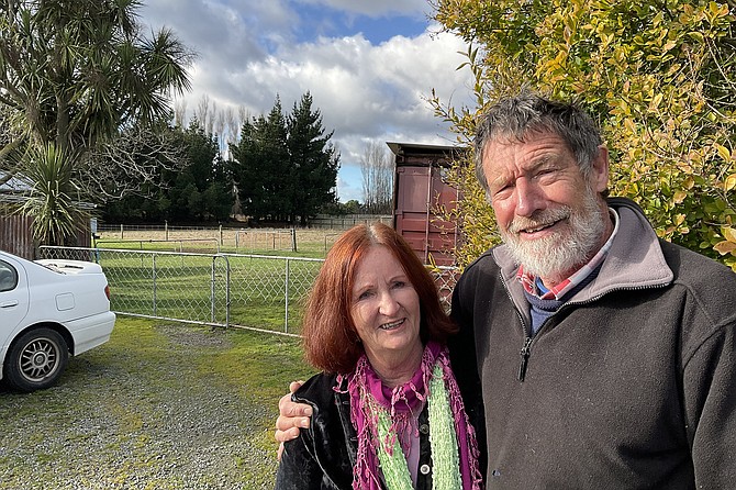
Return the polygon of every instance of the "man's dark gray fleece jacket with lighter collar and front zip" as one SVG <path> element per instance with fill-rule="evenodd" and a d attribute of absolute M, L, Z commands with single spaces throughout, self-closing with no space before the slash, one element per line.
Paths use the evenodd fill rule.
<path fill-rule="evenodd" d="M 658 240 L 633 202 L 610 205 L 598 277 L 533 338 L 504 246 L 455 288 L 453 367 L 487 488 L 736 488 L 736 275 Z"/>

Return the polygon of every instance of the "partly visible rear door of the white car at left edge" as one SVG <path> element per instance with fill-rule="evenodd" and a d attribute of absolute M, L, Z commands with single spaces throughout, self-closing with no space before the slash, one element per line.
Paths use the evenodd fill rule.
<path fill-rule="evenodd" d="M 29 288 L 25 270 L 10 257 L 0 257 L 0 353 L 10 343 L 29 311 Z"/>

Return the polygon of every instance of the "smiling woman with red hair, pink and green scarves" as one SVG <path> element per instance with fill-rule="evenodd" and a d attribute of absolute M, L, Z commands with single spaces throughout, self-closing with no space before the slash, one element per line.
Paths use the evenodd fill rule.
<path fill-rule="evenodd" d="M 344 233 L 306 302 L 304 354 L 322 372 L 292 396 L 312 417 L 285 445 L 277 489 L 482 488 L 445 347 L 455 332 L 399 234 L 380 223 Z"/>

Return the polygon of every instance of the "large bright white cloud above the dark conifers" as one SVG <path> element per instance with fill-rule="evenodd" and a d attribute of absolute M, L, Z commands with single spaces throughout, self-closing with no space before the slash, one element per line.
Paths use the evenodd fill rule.
<path fill-rule="evenodd" d="M 395 36 L 379 46 L 361 35 L 321 38 L 282 47 L 238 77 L 275 87 L 283 100 L 310 90 L 325 123 L 343 136 L 425 133 L 437 123 L 426 102 L 433 88 L 443 98 L 467 92 L 468 74 L 455 70 L 462 48 L 448 34 Z"/>

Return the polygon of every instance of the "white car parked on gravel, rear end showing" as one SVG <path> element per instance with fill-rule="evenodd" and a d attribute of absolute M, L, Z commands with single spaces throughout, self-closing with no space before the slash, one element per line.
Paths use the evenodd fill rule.
<path fill-rule="evenodd" d="M 108 342 L 114 324 L 98 264 L 0 250 L 0 379 L 11 388 L 54 385 L 69 357 Z"/>

